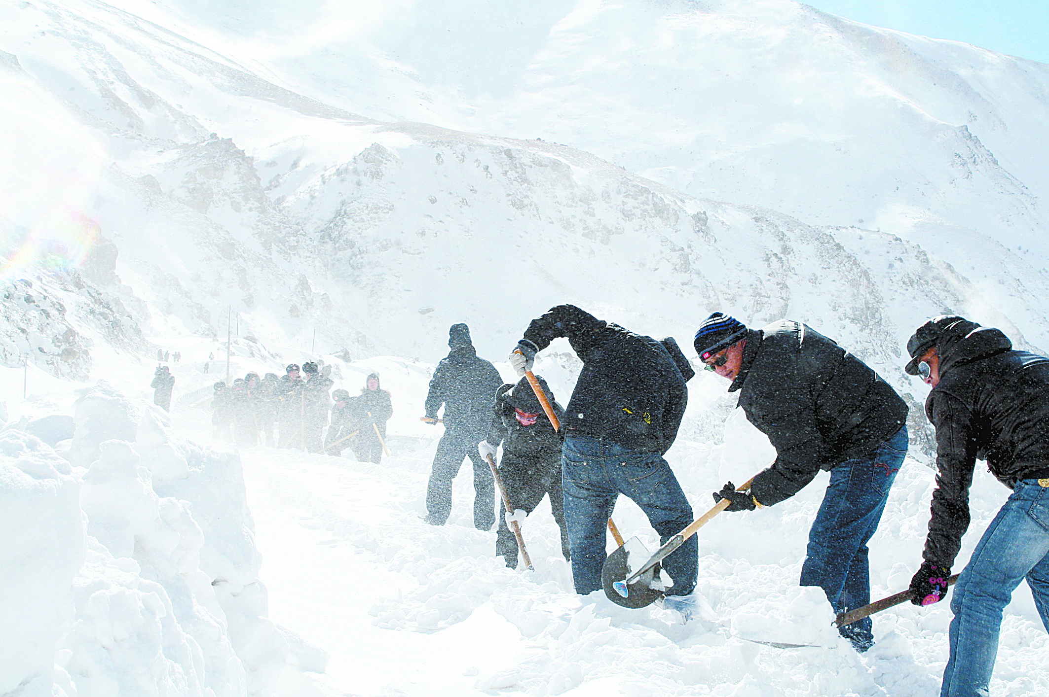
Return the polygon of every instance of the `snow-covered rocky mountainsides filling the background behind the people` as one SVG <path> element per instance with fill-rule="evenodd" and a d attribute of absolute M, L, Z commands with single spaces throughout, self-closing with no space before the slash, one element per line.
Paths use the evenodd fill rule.
<path fill-rule="evenodd" d="M 890 372 L 946 309 L 1049 345 L 1041 64 L 778 0 L 123 7 L 4 10 L 5 218 L 29 257 L 72 237 L 146 334 L 232 305 L 326 350 L 432 357 L 466 320 L 501 352 L 569 300 L 789 314 Z M 393 121 L 424 117 L 488 135 Z"/>

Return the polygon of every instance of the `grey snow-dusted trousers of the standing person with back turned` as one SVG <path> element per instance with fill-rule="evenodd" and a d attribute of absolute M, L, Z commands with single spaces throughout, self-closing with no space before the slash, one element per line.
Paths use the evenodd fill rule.
<path fill-rule="evenodd" d="M 495 522 L 495 480 L 488 462 L 480 459 L 477 443 L 485 434 L 445 431 L 433 456 L 433 471 L 426 488 L 426 509 L 435 525 L 448 522 L 452 511 L 452 480 L 467 457 L 473 463 L 473 524 L 477 529 L 490 530 Z"/>

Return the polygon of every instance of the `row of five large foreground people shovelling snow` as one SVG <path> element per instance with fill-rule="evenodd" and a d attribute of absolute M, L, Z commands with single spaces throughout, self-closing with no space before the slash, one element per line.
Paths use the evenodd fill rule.
<path fill-rule="evenodd" d="M 446 431 L 427 491 L 426 521 L 444 524 L 451 482 L 473 461 L 474 524 L 490 529 L 493 478 L 483 461 L 502 445 L 499 465 L 511 504 L 531 513 L 544 495 L 561 528 L 575 589 L 602 587 L 605 523 L 616 499 L 633 499 L 661 542 L 692 521 L 692 508 L 664 455 L 677 437 L 694 372 L 672 339 L 656 341 L 573 305 L 535 319 L 510 363 L 519 375 L 554 339 L 566 337 L 582 361 L 568 406 L 553 406 L 554 431 L 526 379 L 502 385 L 476 356 L 466 325 L 449 332 L 424 420 L 444 406 Z M 907 407 L 862 361 L 799 322 L 754 329 L 714 312 L 693 347 L 707 370 L 729 380 L 738 407 L 776 450 L 775 461 L 744 491 L 713 493 L 729 511 L 776 505 L 819 471 L 830 483 L 809 531 L 799 583 L 818 586 L 836 613 L 870 603 L 868 542 L 907 452 Z M 1014 350 L 1000 330 L 957 315 L 923 324 L 907 342 L 908 374 L 929 387 L 925 411 L 936 429 L 937 486 L 923 559 L 911 582 L 915 605 L 947 594 L 950 571 L 969 525 L 968 489 L 978 458 L 1012 494 L 961 572 L 950 608 L 949 660 L 942 697 L 987 695 L 1002 613 L 1027 580 L 1049 629 L 1049 358 Z M 508 513 L 505 511 L 504 513 Z M 516 565 L 516 545 L 501 516 L 497 553 Z M 690 538 L 664 563 L 666 604 L 687 613 L 698 572 Z M 858 651 L 874 644 L 870 617 L 839 628 Z"/>

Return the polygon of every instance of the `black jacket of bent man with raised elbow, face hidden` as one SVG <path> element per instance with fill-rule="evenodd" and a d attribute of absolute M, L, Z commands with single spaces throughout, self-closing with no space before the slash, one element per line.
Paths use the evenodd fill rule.
<path fill-rule="evenodd" d="M 541 351 L 559 336 L 568 337 L 583 362 L 561 421 L 565 435 L 666 453 L 688 402 L 685 378 L 666 348 L 574 305 L 558 305 L 533 320 L 522 342 Z"/>

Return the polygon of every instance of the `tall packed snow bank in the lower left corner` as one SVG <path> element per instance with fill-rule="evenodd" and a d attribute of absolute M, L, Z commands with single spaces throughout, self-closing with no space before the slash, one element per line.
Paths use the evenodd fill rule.
<path fill-rule="evenodd" d="M 290 645 L 323 670 L 265 616 L 239 456 L 105 384 L 73 420 L 66 457 L 0 434 L 0 623 L 18 628 L 0 639 L 0 690 L 267 695 Z"/>

